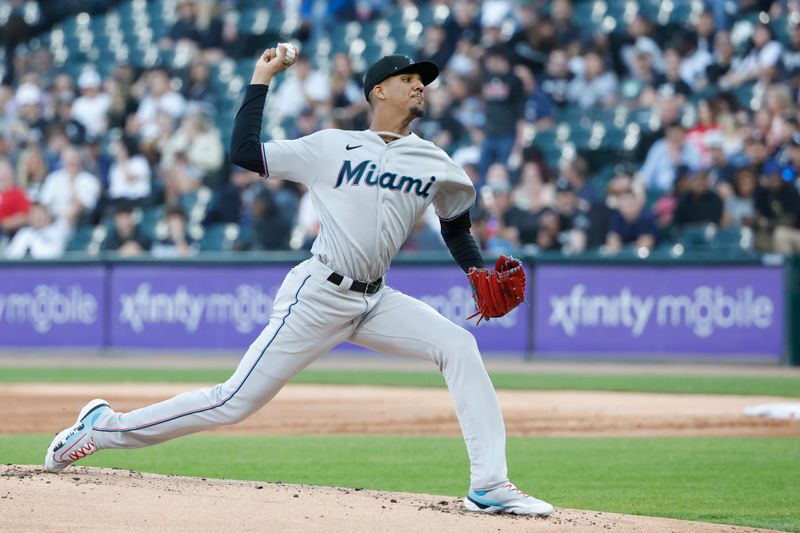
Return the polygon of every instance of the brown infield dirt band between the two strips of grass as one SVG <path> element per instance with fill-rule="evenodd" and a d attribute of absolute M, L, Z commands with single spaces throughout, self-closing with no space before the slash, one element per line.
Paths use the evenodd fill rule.
<path fill-rule="evenodd" d="M 0 434 L 53 433 L 72 424 L 80 408 L 96 397 L 129 411 L 192 388 L 2 384 Z M 782 400 L 776 397 L 510 390 L 498 391 L 498 397 L 510 436 L 800 436 L 800 421 L 742 414 L 748 405 Z M 446 389 L 294 384 L 241 424 L 214 431 L 460 435 Z"/>

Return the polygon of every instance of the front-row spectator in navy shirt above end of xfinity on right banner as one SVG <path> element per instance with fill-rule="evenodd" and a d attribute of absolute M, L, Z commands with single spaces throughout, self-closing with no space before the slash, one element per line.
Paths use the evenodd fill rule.
<path fill-rule="evenodd" d="M 638 198 L 632 189 L 626 189 L 620 192 L 617 201 L 606 238 L 607 250 L 617 253 L 625 246 L 632 246 L 652 251 L 658 229 L 644 199 Z"/>

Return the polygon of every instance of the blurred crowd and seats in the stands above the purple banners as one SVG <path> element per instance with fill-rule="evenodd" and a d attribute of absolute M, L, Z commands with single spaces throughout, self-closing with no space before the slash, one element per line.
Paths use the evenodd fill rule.
<path fill-rule="evenodd" d="M 414 127 L 486 252 L 800 253 L 796 0 L 0 0 L 0 39 L 7 258 L 310 248 L 306 191 L 227 154 L 286 40 L 265 139 L 366 129 L 382 55 L 442 67 Z M 446 250 L 437 224 L 404 250 Z"/>

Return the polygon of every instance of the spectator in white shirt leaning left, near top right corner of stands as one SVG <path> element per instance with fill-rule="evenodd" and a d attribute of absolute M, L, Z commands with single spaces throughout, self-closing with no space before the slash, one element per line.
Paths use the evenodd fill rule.
<path fill-rule="evenodd" d="M 733 60 L 730 72 L 719 80 L 723 88 L 739 87 L 757 80 L 771 82 L 777 73 L 783 46 L 775 40 L 769 24 L 753 29 L 747 52 Z"/>

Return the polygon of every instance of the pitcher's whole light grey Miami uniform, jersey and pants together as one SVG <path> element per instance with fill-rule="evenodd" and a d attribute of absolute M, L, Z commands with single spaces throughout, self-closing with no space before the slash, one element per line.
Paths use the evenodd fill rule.
<path fill-rule="evenodd" d="M 503 417 L 474 337 L 386 284 L 368 293 L 330 281 L 334 271 L 350 281 L 381 277 L 431 203 L 445 219 L 469 209 L 475 189 L 464 171 L 413 134 L 387 144 L 372 131 L 324 130 L 261 148 L 265 174 L 309 188 L 321 224 L 314 257 L 287 274 L 269 322 L 227 381 L 128 413 L 105 410 L 93 423 L 92 446 L 137 448 L 236 423 L 328 350 L 350 342 L 435 363 L 464 433 L 470 487 L 504 485 Z"/>

